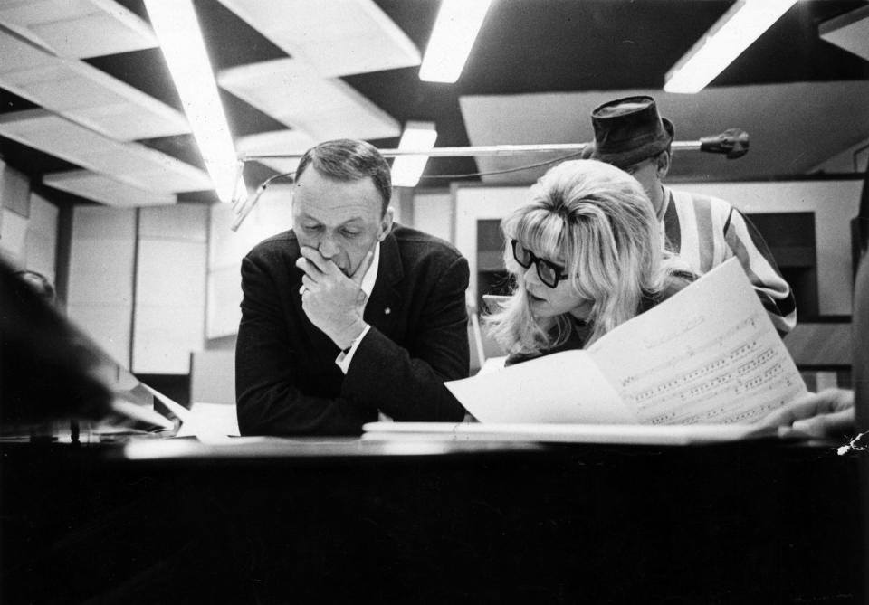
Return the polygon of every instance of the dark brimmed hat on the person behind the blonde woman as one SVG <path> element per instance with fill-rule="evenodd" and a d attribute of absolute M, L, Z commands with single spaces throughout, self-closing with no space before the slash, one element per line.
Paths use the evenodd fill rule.
<path fill-rule="evenodd" d="M 595 140 L 582 156 L 626 168 L 655 156 L 673 141 L 673 122 L 647 96 L 607 101 L 591 112 Z"/>

